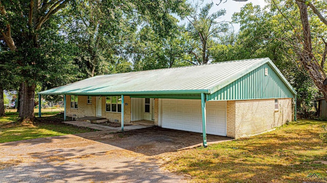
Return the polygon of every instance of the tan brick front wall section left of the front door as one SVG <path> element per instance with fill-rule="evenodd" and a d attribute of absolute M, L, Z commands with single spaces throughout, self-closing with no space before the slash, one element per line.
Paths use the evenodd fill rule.
<path fill-rule="evenodd" d="M 92 103 L 87 104 L 87 96 L 78 96 L 78 109 L 71 108 L 71 95 L 66 95 L 66 115 L 68 117 L 86 117 L 96 116 L 97 110 L 97 97 L 92 97 Z"/>

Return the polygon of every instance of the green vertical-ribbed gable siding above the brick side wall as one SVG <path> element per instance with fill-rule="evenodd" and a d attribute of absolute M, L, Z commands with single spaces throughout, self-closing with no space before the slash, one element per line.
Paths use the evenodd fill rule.
<path fill-rule="evenodd" d="M 265 75 L 268 68 L 268 75 Z M 292 98 L 292 91 L 276 74 L 268 63 L 254 69 L 228 84 L 213 94 L 207 95 L 207 100 L 246 100 L 263 98 Z"/>

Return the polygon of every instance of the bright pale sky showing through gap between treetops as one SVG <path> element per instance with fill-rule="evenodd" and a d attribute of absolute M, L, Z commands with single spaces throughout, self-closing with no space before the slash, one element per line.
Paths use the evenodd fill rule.
<path fill-rule="evenodd" d="M 189 0 L 188 2 L 190 2 L 191 4 L 193 4 L 194 2 L 196 2 L 198 0 Z M 225 21 L 231 21 L 231 16 L 233 15 L 233 13 L 235 12 L 240 12 L 241 8 L 247 4 L 247 3 L 252 3 L 253 5 L 260 5 L 262 8 L 267 5 L 267 3 L 265 3 L 264 0 L 248 0 L 246 2 L 235 2 L 232 0 L 223 0 L 222 3 L 217 6 L 216 4 L 218 4 L 220 1 L 219 0 L 204 0 L 203 1 L 203 5 L 207 4 L 207 3 L 211 3 L 214 2 L 214 7 L 211 9 L 212 12 L 216 12 L 219 9 L 225 9 L 226 10 L 226 15 L 221 17 L 221 20 L 225 20 Z M 225 2 L 225 3 L 224 3 Z M 186 21 L 181 21 L 180 23 L 185 23 Z M 239 24 L 233 24 L 234 30 L 238 31 L 240 29 L 240 25 Z"/>

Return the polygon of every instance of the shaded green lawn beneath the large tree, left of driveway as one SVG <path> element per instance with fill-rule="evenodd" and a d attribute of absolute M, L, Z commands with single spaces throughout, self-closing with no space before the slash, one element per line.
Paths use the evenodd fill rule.
<path fill-rule="evenodd" d="M 18 113 L 6 113 L 5 117 L 0 117 L 0 143 L 94 131 L 62 123 L 62 118 L 54 115 L 58 113 L 43 112 L 43 117 L 36 118 L 34 123 L 19 123 Z"/>

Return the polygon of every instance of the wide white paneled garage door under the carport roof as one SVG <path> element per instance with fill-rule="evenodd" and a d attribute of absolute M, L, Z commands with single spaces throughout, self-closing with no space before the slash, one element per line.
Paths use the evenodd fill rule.
<path fill-rule="evenodd" d="M 161 127 L 202 133 L 201 100 L 162 99 Z M 226 136 L 226 101 L 206 102 L 207 134 Z"/>

